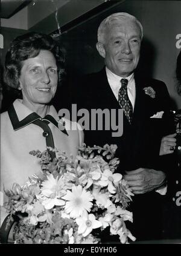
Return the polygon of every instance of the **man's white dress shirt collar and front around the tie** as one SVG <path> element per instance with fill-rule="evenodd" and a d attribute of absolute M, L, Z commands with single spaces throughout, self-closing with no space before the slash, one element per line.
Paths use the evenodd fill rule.
<path fill-rule="evenodd" d="M 130 74 L 128 77 L 121 77 L 117 76 L 116 74 L 112 73 L 107 67 L 106 67 L 106 74 L 107 79 L 110 85 L 111 90 L 113 91 L 113 94 L 115 95 L 116 99 L 118 100 L 118 93 L 119 89 L 121 88 L 121 79 L 127 79 L 128 85 L 127 85 L 127 94 L 129 96 L 130 102 L 132 103 L 133 111 L 135 107 L 135 99 L 136 99 L 136 87 L 135 87 L 135 79 L 134 79 L 134 73 Z"/>

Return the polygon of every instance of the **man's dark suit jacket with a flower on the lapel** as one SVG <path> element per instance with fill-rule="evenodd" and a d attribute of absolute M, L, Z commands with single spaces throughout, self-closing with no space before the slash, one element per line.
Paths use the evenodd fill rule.
<path fill-rule="evenodd" d="M 150 118 L 159 111 L 170 110 L 170 96 L 164 82 L 155 79 L 141 79 L 135 74 L 136 100 L 133 122 L 129 124 L 125 115 L 123 134 L 112 137 L 112 130 L 84 130 L 86 145 L 103 146 L 116 144 L 116 157 L 120 159 L 117 172 L 132 171 L 138 168 L 153 168 L 171 172 L 169 157 L 159 157 L 160 141 L 163 136 L 171 134 L 173 127 L 163 119 Z M 152 98 L 145 94 L 145 87 L 152 87 L 156 92 Z M 106 68 L 98 73 L 88 74 L 72 88 L 71 102 L 77 103 L 77 109 L 116 109 L 120 108 L 106 76 Z M 130 229 L 138 239 L 160 238 L 159 231 L 162 195 L 152 191 L 135 195 L 131 209 L 133 227 Z"/>

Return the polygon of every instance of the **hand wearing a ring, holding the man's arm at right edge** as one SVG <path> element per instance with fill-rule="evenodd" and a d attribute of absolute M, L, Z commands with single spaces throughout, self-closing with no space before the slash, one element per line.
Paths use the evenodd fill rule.
<path fill-rule="evenodd" d="M 170 134 L 166 137 L 162 137 L 161 145 L 160 145 L 160 156 L 166 154 L 172 154 L 174 149 L 176 148 L 176 133 Z"/>

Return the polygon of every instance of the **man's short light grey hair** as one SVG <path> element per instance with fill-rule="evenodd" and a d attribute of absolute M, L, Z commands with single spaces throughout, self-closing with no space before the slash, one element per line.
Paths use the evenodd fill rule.
<path fill-rule="evenodd" d="M 98 27 L 98 42 L 103 43 L 104 42 L 104 35 L 106 33 L 106 28 L 112 24 L 113 21 L 120 21 L 122 19 L 130 19 L 131 21 L 135 21 L 135 23 L 138 25 L 141 31 L 141 40 L 143 38 L 143 28 L 141 23 L 136 19 L 135 16 L 130 15 L 129 13 L 113 13 L 112 15 L 108 16 L 106 19 L 104 19 L 100 26 Z"/>

